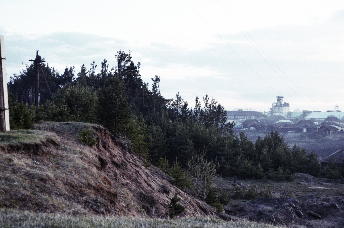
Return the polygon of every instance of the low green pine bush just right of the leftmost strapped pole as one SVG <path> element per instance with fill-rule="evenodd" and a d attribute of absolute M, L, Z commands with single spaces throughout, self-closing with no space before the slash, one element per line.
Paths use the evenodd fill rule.
<path fill-rule="evenodd" d="M 35 111 L 33 105 L 19 103 L 9 99 L 10 129 L 30 129 L 34 124 Z"/>

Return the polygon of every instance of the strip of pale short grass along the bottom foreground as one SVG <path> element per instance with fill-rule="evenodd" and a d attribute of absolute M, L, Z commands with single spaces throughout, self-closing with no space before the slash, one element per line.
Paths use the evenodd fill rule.
<path fill-rule="evenodd" d="M 32 213 L 13 209 L 1 209 L 0 222 L 2 227 L 276 227 L 248 220 L 223 221 L 212 217 L 150 219 L 119 216 L 71 216 L 64 214 Z"/>

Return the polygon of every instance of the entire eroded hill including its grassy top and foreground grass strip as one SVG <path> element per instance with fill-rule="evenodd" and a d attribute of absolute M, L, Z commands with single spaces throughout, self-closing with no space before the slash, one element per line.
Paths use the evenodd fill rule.
<path fill-rule="evenodd" d="M 87 126 L 93 147 L 79 142 Z M 157 168 L 144 168 L 96 125 L 44 122 L 0 133 L 0 139 L 3 227 L 270 227 L 219 220 L 212 207 L 171 185 Z M 186 210 L 166 219 L 175 192 Z"/>

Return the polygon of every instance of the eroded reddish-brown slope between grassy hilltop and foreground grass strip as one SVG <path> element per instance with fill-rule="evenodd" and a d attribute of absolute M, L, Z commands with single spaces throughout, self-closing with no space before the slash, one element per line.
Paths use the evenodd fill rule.
<path fill-rule="evenodd" d="M 77 141 L 71 123 L 43 123 L 53 132 L 45 142 L 0 148 L 0 207 L 49 213 L 166 217 L 175 193 L 186 207 L 181 216 L 206 216 L 214 209 L 143 166 L 105 128 L 92 126 L 93 148 Z M 69 132 L 61 130 L 66 128 Z M 75 129 L 74 129 L 75 128 Z M 72 132 L 71 129 L 75 131 Z"/>

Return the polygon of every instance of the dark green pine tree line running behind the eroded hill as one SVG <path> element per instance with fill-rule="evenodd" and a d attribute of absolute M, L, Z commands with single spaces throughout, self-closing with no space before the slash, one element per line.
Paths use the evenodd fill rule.
<path fill-rule="evenodd" d="M 38 121 L 78 121 L 103 125 L 128 148 L 139 153 L 147 166 L 161 159 L 182 168 L 195 154 L 204 153 L 218 165 L 218 173 L 241 178 L 286 180 L 296 172 L 320 175 L 318 156 L 296 145 L 290 148 L 278 132 L 256 142 L 234 123 L 226 123 L 226 111 L 208 95 L 196 96 L 194 107 L 179 93 L 166 99 L 160 93 L 160 77 L 142 81 L 140 63 L 130 51 L 118 51 L 117 62 L 109 67 L 106 59 L 83 64 L 75 74 L 66 66 L 59 74 L 49 64 L 41 64 L 40 107 L 33 102 L 35 65 L 26 65 L 8 83 L 11 128 L 30 128 Z M 98 71 L 99 69 L 99 71 Z"/>

